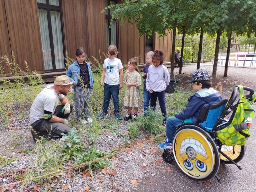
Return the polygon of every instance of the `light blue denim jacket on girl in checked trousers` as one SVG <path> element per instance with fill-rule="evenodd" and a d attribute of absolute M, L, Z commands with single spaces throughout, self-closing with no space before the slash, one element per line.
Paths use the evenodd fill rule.
<path fill-rule="evenodd" d="M 92 68 L 91 68 L 91 65 L 90 63 L 88 62 L 85 62 L 88 66 L 88 70 L 89 70 L 89 76 L 90 76 L 90 87 L 91 89 L 93 89 L 93 83 L 94 83 L 94 80 L 93 80 L 93 75 L 92 75 Z M 69 77 L 69 80 L 71 82 L 75 81 L 75 85 L 73 85 L 73 89 L 74 87 L 77 85 L 78 83 L 78 80 L 79 80 L 79 77 L 78 75 L 80 74 L 80 67 L 78 65 L 78 62 L 75 61 L 75 63 L 71 64 L 69 67 L 68 67 L 68 70 L 67 70 L 67 73 L 66 75 Z M 72 76 L 74 79 L 72 79 Z"/>

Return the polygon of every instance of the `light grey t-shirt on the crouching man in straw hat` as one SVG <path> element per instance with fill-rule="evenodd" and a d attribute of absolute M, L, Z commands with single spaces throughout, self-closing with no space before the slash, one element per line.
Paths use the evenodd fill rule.
<path fill-rule="evenodd" d="M 30 124 L 33 124 L 39 119 L 44 119 L 44 110 L 51 111 L 52 115 L 57 107 L 58 101 L 64 98 L 63 94 L 58 95 L 51 87 L 54 85 L 48 85 L 37 96 L 30 108 Z"/>

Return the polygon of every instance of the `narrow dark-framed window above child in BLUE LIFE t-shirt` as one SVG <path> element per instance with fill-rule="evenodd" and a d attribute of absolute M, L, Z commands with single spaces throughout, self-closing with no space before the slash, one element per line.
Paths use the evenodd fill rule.
<path fill-rule="evenodd" d="M 105 6 L 109 6 L 112 4 L 116 4 L 116 1 L 105 0 Z M 106 17 L 106 36 L 107 36 L 107 47 L 109 45 L 116 45 L 117 46 L 117 21 L 113 20 L 112 24 L 110 25 L 111 20 L 111 10 L 105 9 L 105 17 Z M 110 28 L 109 28 L 110 25 Z"/>

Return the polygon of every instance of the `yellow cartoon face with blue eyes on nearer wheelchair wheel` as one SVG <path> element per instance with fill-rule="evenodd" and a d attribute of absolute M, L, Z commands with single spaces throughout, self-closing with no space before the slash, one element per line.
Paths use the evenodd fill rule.
<path fill-rule="evenodd" d="M 198 132 L 179 132 L 175 142 L 175 155 L 183 170 L 192 176 L 203 177 L 212 171 L 211 147 Z"/>

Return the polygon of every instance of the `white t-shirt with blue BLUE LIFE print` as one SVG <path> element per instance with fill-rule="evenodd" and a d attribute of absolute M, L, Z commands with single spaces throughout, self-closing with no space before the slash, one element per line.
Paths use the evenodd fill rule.
<path fill-rule="evenodd" d="M 122 62 L 119 58 L 104 60 L 103 68 L 106 68 L 105 83 L 109 85 L 119 84 L 119 69 L 123 68 Z"/>

